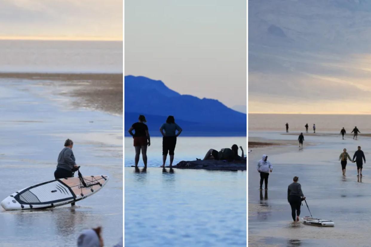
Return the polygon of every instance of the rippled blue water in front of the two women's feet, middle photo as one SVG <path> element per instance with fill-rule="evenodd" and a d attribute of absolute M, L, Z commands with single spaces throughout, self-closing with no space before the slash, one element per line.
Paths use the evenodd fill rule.
<path fill-rule="evenodd" d="M 246 246 L 246 172 L 125 167 L 125 246 Z"/>

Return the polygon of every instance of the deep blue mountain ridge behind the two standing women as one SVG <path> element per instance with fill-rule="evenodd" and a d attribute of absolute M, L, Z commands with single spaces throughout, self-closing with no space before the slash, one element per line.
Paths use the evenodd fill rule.
<path fill-rule="evenodd" d="M 182 136 L 246 136 L 246 114 L 214 99 L 181 95 L 162 81 L 143 76 L 125 76 L 125 136 L 145 115 L 151 136 L 160 136 L 160 126 L 172 115 L 183 128 Z"/>

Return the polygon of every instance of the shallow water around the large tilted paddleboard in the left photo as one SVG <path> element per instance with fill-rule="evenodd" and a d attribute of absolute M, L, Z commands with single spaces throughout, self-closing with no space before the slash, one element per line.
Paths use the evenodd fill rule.
<path fill-rule="evenodd" d="M 110 177 L 101 191 L 79 201 L 75 209 L 1 208 L 0 246 L 75 246 L 83 229 L 96 226 L 103 227 L 106 246 L 113 246 L 122 236 L 122 117 L 73 110 L 69 98 L 49 95 L 49 89 L 35 86 L 37 81 L 0 82 L 0 200 L 53 180 L 66 138 L 75 143 L 83 176 Z"/>

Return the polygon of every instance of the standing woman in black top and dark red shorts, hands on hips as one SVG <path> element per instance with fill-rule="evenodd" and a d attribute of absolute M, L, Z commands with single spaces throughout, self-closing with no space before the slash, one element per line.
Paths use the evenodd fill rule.
<path fill-rule="evenodd" d="M 147 120 L 145 119 L 144 115 L 139 115 L 138 118 L 139 122 L 134 123 L 129 128 L 129 134 L 134 139 L 134 148 L 135 148 L 135 167 L 138 166 L 139 163 L 139 156 L 140 151 L 142 150 L 142 158 L 144 167 L 147 167 L 147 145 L 148 147 L 151 145 L 150 140 L 150 133 L 148 132 Z M 135 134 L 133 134 L 133 130 L 135 130 Z"/>

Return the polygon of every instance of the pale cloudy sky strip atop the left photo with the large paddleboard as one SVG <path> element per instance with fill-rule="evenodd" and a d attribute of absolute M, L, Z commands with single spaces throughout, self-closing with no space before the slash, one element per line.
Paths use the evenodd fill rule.
<path fill-rule="evenodd" d="M 0 0 L 0 39 L 122 40 L 122 0 Z"/>

